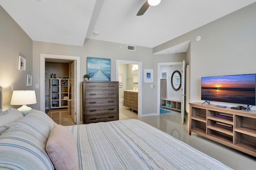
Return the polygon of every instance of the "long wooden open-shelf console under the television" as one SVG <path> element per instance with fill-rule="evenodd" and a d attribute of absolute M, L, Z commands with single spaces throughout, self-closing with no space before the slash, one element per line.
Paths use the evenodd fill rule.
<path fill-rule="evenodd" d="M 256 111 L 190 103 L 191 132 L 256 157 Z"/>

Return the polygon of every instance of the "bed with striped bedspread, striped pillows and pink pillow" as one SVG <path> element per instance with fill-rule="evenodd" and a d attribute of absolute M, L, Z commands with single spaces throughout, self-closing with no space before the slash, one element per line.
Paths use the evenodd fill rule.
<path fill-rule="evenodd" d="M 64 127 L 32 109 L 8 124 L 0 136 L 0 169 L 230 169 L 136 119 Z"/>

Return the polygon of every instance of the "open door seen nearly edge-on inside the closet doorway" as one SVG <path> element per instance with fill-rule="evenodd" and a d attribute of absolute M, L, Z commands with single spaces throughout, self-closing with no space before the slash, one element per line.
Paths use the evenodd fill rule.
<path fill-rule="evenodd" d="M 71 117 L 76 123 L 76 61 L 71 63 Z"/>

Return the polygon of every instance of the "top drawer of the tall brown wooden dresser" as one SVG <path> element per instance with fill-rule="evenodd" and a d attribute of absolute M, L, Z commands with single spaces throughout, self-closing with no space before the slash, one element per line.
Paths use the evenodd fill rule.
<path fill-rule="evenodd" d="M 116 90 L 117 89 L 117 83 L 114 82 L 104 82 L 104 83 L 98 83 L 98 82 L 92 82 L 92 83 L 86 83 L 86 90 Z"/>

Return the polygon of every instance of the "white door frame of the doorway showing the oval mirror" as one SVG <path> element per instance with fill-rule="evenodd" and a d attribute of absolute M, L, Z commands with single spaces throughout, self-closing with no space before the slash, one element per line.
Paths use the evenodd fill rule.
<path fill-rule="evenodd" d="M 157 63 L 157 115 L 160 115 L 160 79 L 161 72 L 160 67 L 166 65 L 182 65 L 183 62 L 170 62 L 170 63 Z M 181 93 L 182 94 L 182 93 Z"/>

